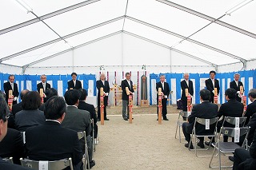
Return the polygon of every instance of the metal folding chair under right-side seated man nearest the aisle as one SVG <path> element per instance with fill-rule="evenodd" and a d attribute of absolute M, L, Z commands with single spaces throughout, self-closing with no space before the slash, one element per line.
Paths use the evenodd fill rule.
<path fill-rule="evenodd" d="M 197 157 L 208 157 L 208 156 L 198 156 L 198 150 L 208 150 L 210 148 L 210 145 L 208 148 L 198 149 L 197 148 L 197 143 L 198 143 L 197 139 L 198 139 L 198 137 L 211 137 L 211 140 L 210 140 L 210 144 L 211 144 L 213 137 L 216 136 L 216 133 L 217 133 L 217 122 L 218 122 L 218 117 L 214 117 L 211 119 L 195 117 L 194 127 L 193 127 L 191 138 L 190 138 L 190 144 L 192 143 L 193 136 L 194 136 L 194 145 L 195 145 L 194 150 L 195 150 L 195 155 Z M 196 132 L 198 125 L 203 125 L 205 132 L 201 132 L 201 133 Z M 190 150 L 190 144 L 189 144 L 189 150 Z"/>

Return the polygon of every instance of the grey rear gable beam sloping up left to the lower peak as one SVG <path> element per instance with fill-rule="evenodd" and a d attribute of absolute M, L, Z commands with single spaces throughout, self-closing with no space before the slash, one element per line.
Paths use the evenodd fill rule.
<path fill-rule="evenodd" d="M 67 53 L 67 52 L 70 52 L 70 51 L 72 51 L 72 50 L 74 51 L 74 49 L 78 49 L 78 48 L 80 48 L 80 47 L 82 47 L 82 46 L 84 46 L 84 45 L 89 45 L 89 44 L 91 44 L 91 43 L 98 42 L 98 41 L 103 40 L 103 39 L 105 39 L 105 38 L 110 38 L 110 37 L 112 37 L 112 36 L 114 36 L 114 35 L 116 35 L 116 34 L 120 34 L 120 33 L 121 33 L 121 31 L 117 31 L 117 32 L 114 32 L 114 33 L 112 33 L 112 34 L 108 34 L 108 35 L 106 35 L 106 36 L 104 36 L 104 37 L 102 37 L 102 38 L 97 38 L 97 39 L 94 39 L 94 40 L 92 40 L 92 41 L 90 41 L 90 42 L 83 43 L 82 45 L 77 45 L 77 46 L 75 46 L 74 48 L 66 49 L 66 50 L 63 50 L 63 51 L 61 51 L 61 52 L 59 52 L 59 53 L 54 53 L 54 54 L 51 55 L 51 56 L 44 57 L 44 58 L 42 58 L 42 59 L 40 59 L 40 60 L 38 60 L 38 61 L 30 62 L 30 63 L 27 64 L 27 65 L 23 65 L 22 68 L 24 68 L 24 70 L 25 70 L 25 69 L 26 69 L 27 67 L 29 67 L 30 65 L 38 64 L 39 62 L 46 61 L 46 60 L 48 60 L 48 59 L 50 59 L 50 58 L 52 58 L 52 57 L 56 57 L 56 56 L 58 56 L 58 55 L 61 55 L 62 53 Z M 73 67 L 74 67 L 74 66 L 73 66 Z"/>

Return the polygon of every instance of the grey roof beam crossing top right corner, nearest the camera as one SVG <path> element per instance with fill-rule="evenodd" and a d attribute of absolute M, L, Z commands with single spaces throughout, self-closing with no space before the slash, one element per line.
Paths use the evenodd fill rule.
<path fill-rule="evenodd" d="M 212 18 L 212 17 L 210 17 L 210 16 L 208 16 L 206 14 L 199 13 L 198 11 L 191 10 L 189 8 L 186 8 L 185 6 L 180 6 L 180 5 L 178 5 L 178 4 L 174 3 L 174 2 L 170 2 L 170 1 L 167 1 L 167 0 L 156 0 L 156 1 L 162 2 L 162 3 L 164 3 L 164 4 L 168 5 L 168 6 L 173 6 L 174 8 L 178 8 L 178 10 L 183 10 L 183 11 L 185 11 L 187 13 L 194 14 L 194 15 L 196 15 L 196 16 L 198 16 L 200 18 L 204 18 L 204 19 L 206 19 L 206 20 L 208 20 L 210 22 L 215 22 L 218 25 L 225 26 L 226 28 L 229 28 L 231 30 L 235 30 L 235 31 L 237 31 L 239 33 L 242 33 L 242 34 L 245 34 L 245 35 L 247 35 L 247 36 L 249 36 L 251 38 L 256 38 L 256 34 L 250 33 L 249 31 L 246 31 L 246 30 L 242 30 L 241 28 L 238 28 L 236 26 L 232 26 L 232 25 L 230 25 L 230 24 L 228 24 L 226 22 L 222 22 L 222 21 L 220 21 L 218 19 L 215 19 L 215 18 Z"/>

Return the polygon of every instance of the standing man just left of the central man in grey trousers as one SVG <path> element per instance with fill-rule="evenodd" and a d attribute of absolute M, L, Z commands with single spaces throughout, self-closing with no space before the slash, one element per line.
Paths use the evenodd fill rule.
<path fill-rule="evenodd" d="M 103 88 L 103 95 L 104 95 L 104 120 L 109 121 L 109 119 L 106 117 L 106 106 L 107 106 L 107 100 L 110 93 L 110 85 L 109 81 L 106 81 L 105 73 L 102 73 L 100 76 L 100 80 L 96 81 L 96 87 L 98 89 L 98 121 L 101 120 L 101 104 L 100 104 L 100 97 L 101 97 L 101 91 L 100 89 Z"/>

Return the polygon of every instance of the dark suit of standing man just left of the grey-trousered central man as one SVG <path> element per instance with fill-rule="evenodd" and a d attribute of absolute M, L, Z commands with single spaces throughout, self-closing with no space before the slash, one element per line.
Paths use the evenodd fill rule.
<path fill-rule="evenodd" d="M 104 81 L 104 85 L 101 80 L 96 81 L 96 87 L 98 89 L 98 119 L 101 119 L 101 104 L 100 104 L 100 97 L 101 97 L 101 91 L 100 89 L 103 88 L 103 91 L 105 93 L 110 93 L 110 85 L 109 81 Z M 104 119 L 106 119 L 106 106 L 107 106 L 107 100 L 108 96 L 104 97 Z"/>

